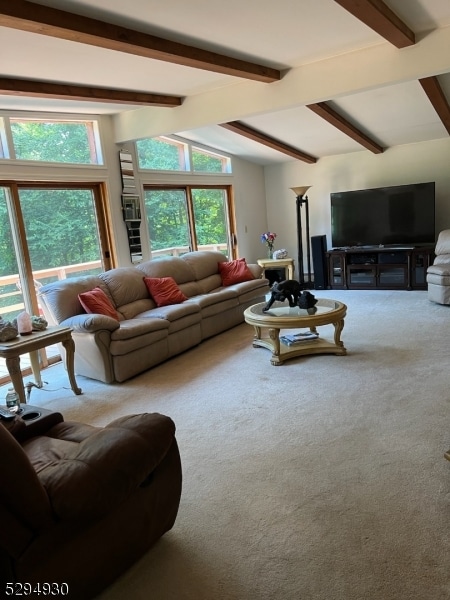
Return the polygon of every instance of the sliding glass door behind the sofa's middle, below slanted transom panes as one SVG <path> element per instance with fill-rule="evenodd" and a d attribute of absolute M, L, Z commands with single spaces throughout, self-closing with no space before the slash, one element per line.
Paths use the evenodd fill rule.
<path fill-rule="evenodd" d="M 234 256 L 229 186 L 148 186 L 144 207 L 152 257 L 192 250 Z"/>

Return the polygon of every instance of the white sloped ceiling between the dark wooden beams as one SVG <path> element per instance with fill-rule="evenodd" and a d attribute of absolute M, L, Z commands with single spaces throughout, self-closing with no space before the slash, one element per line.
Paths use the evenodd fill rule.
<path fill-rule="evenodd" d="M 416 34 L 415 46 L 403 49 L 395 48 L 334 0 L 39 0 L 35 4 L 286 74 L 280 82 L 250 82 L 0 27 L 0 77 L 185 98 L 179 108 L 137 108 L 0 95 L 0 110 L 123 113 L 117 117 L 122 136 L 127 123 L 138 121 L 142 135 L 177 134 L 259 164 L 293 158 L 218 123 L 239 120 L 318 159 L 363 147 L 309 110 L 307 103 L 326 101 L 385 149 L 449 135 L 418 82 L 436 75 L 450 102 L 449 0 L 385 0 Z M 130 127 L 130 137 L 137 137 L 135 129 Z"/>

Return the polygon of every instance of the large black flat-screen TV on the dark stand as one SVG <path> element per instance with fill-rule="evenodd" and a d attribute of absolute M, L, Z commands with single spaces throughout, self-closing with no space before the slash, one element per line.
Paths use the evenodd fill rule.
<path fill-rule="evenodd" d="M 330 196 L 334 248 L 435 243 L 434 182 Z"/>

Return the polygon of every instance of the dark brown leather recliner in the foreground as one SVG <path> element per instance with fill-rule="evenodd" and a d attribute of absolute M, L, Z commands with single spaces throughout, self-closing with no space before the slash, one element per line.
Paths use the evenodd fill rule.
<path fill-rule="evenodd" d="M 3 592 L 7 582 L 66 584 L 69 600 L 93 598 L 173 526 L 181 463 L 169 417 L 1 423 Z"/>

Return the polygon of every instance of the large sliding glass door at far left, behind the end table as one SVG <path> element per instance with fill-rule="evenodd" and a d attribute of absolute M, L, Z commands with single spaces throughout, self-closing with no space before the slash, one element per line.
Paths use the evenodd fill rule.
<path fill-rule="evenodd" d="M 111 268 L 103 207 L 100 185 L 0 186 L 0 314 L 5 320 L 24 309 L 40 314 L 38 291 L 45 283 Z M 40 352 L 42 366 L 49 362 L 46 352 Z"/>

